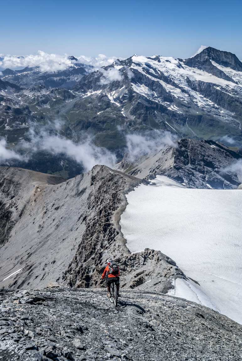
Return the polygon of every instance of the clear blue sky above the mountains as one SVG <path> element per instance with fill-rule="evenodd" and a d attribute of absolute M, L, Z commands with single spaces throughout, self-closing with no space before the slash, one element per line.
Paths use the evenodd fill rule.
<path fill-rule="evenodd" d="M 0 53 L 186 58 L 200 45 L 242 58 L 238 0 L 8 0 L 0 7 Z"/>

